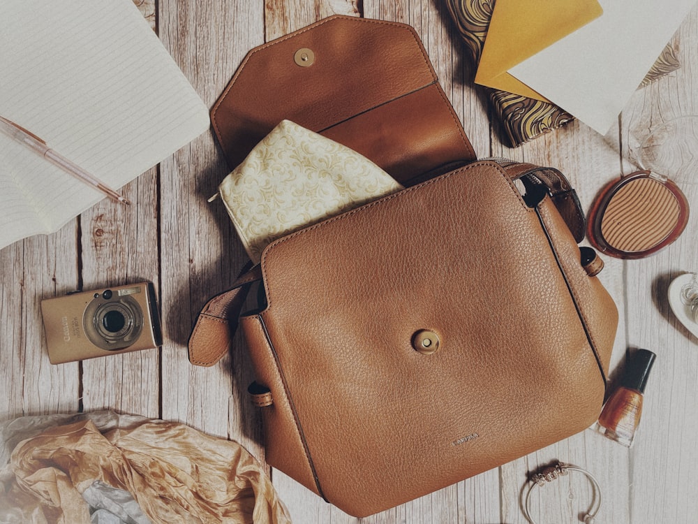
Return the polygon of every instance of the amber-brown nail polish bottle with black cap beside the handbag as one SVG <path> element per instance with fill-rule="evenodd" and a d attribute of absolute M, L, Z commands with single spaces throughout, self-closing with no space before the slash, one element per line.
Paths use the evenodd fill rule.
<path fill-rule="evenodd" d="M 642 398 L 656 355 L 637 349 L 628 356 L 621 385 L 607 400 L 596 430 L 605 437 L 630 447 L 642 414 Z"/>

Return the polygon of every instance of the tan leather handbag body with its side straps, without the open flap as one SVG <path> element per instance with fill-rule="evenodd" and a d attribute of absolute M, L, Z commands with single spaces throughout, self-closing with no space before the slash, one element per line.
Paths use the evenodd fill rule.
<path fill-rule="evenodd" d="M 239 320 L 266 460 L 366 516 L 584 430 L 618 321 L 550 168 L 477 161 L 269 245 L 206 305 L 190 358 Z"/>

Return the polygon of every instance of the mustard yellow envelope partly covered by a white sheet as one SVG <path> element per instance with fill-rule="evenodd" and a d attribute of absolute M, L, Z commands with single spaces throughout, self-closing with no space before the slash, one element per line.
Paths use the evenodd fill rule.
<path fill-rule="evenodd" d="M 475 82 L 547 102 L 507 71 L 602 13 L 597 0 L 497 0 Z"/>

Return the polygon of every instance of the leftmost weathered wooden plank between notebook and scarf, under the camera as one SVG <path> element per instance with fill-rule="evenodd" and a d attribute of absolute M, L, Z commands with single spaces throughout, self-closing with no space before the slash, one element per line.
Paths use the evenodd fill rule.
<path fill-rule="evenodd" d="M 79 366 L 49 363 L 40 314 L 41 299 L 79 285 L 76 226 L 71 221 L 57 233 L 20 240 L 0 251 L 0 420 L 70 413 L 79 407 Z"/>

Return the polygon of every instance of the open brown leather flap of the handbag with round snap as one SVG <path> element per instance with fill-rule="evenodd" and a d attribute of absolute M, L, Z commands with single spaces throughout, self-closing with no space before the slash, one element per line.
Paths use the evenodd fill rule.
<path fill-rule="evenodd" d="M 431 93 L 406 103 L 410 94 L 425 88 Z M 403 101 L 399 111 L 383 110 L 380 118 L 343 125 L 392 101 Z M 475 159 L 422 43 L 406 24 L 335 15 L 251 50 L 211 110 L 230 167 L 242 162 L 283 119 L 317 133 L 328 132 L 393 176 L 389 167 L 396 159 L 384 161 L 381 151 L 395 143 L 403 155 L 410 154 L 404 150 L 405 138 L 394 135 L 429 133 L 419 141 L 433 149 L 438 149 L 438 140 L 449 140 L 454 151 L 439 158 L 439 165 Z M 380 147 L 366 151 L 366 135 Z"/>

